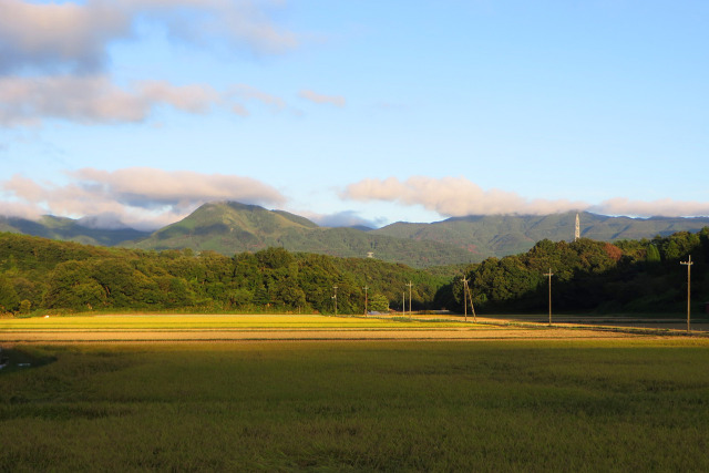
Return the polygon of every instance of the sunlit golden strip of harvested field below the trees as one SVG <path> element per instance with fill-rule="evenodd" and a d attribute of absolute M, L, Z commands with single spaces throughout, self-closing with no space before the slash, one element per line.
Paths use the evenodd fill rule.
<path fill-rule="evenodd" d="M 246 340 L 500 340 L 648 337 L 599 328 L 510 325 L 460 318 L 392 319 L 316 315 L 114 315 L 0 320 L 0 342 Z"/>

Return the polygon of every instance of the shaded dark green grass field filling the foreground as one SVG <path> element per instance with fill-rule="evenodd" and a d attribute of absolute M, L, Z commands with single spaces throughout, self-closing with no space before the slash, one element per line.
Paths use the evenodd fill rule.
<path fill-rule="evenodd" d="M 709 471 L 706 339 L 6 354 L 0 471 Z"/>

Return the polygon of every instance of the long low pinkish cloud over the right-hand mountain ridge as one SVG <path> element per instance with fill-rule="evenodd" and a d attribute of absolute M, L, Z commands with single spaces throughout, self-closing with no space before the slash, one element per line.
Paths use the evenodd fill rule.
<path fill-rule="evenodd" d="M 399 181 L 363 179 L 350 184 L 340 197 L 360 202 L 382 200 L 402 205 L 420 205 L 449 217 L 466 215 L 547 215 L 571 210 L 589 210 L 605 215 L 701 216 L 709 215 L 709 203 L 662 199 L 655 202 L 613 198 L 598 205 L 567 199 L 528 199 L 516 193 L 490 189 L 464 177 L 432 178 L 423 176 Z"/>

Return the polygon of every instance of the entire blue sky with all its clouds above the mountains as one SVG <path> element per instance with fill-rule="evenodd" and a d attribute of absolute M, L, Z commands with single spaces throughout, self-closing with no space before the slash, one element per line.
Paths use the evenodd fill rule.
<path fill-rule="evenodd" d="M 0 215 L 709 216 L 706 0 L 0 0 Z"/>

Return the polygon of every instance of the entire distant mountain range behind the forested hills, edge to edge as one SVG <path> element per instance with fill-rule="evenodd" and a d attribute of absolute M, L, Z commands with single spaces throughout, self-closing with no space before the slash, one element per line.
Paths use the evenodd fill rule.
<path fill-rule="evenodd" d="M 225 255 L 279 246 L 289 251 L 372 256 L 413 267 L 481 261 L 523 253 L 536 241 L 572 240 L 575 213 L 454 217 L 431 224 L 399 222 L 378 229 L 321 227 L 282 210 L 236 202 L 209 203 L 184 219 L 147 233 L 95 228 L 91 220 L 44 216 L 38 222 L 0 217 L 0 232 L 142 249 L 214 250 Z M 697 232 L 709 217 L 612 217 L 580 213 L 580 235 L 602 241 Z"/>

